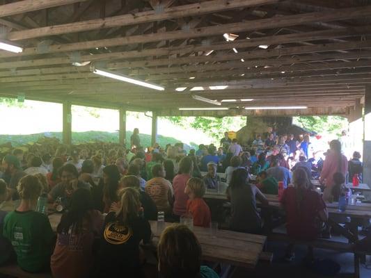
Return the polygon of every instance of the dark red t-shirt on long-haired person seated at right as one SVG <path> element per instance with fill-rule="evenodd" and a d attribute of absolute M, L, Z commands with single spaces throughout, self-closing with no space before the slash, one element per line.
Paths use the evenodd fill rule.
<path fill-rule="evenodd" d="M 326 208 L 321 195 L 315 191 L 306 190 L 298 206 L 297 189 L 289 187 L 283 192 L 281 203 L 285 207 L 287 234 L 290 238 L 315 240 L 318 236 L 316 218 L 319 211 Z"/>

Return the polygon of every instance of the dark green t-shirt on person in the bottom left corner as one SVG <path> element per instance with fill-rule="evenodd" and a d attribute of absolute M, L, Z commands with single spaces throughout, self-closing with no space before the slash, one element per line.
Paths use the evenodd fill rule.
<path fill-rule="evenodd" d="M 3 236 L 12 243 L 20 268 L 28 272 L 47 268 L 54 240 L 47 215 L 35 211 L 12 211 L 4 220 Z"/>

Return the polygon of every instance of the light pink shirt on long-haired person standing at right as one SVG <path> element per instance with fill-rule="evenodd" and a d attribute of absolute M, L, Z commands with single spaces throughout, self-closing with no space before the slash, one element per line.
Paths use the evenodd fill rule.
<path fill-rule="evenodd" d="M 330 151 L 329 154 L 326 155 L 324 167 L 321 172 L 321 180 L 324 180 L 324 185 L 326 187 L 333 186 L 333 174 L 336 172 L 342 172 L 345 176 L 348 172 L 348 161 L 345 156 L 341 155 L 341 163 L 339 163 L 338 154 Z"/>

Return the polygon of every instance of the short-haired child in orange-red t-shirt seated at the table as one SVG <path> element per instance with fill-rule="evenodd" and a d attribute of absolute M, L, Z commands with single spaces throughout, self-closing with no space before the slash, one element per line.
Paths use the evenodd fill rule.
<path fill-rule="evenodd" d="M 192 215 L 195 226 L 208 228 L 210 227 L 211 213 L 209 206 L 203 200 L 205 191 L 205 183 L 199 178 L 189 179 L 184 189 L 184 193 L 189 196 L 186 214 Z"/>

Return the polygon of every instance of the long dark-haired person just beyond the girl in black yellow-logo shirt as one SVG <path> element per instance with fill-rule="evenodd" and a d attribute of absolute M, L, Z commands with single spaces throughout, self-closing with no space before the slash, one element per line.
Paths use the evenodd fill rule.
<path fill-rule="evenodd" d="M 118 192 L 121 190 L 121 176 L 116 165 L 108 165 L 103 169 L 103 202 L 104 213 L 109 212 L 113 202 L 118 202 Z"/>

